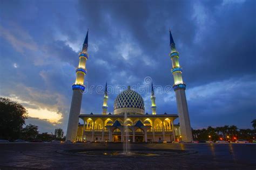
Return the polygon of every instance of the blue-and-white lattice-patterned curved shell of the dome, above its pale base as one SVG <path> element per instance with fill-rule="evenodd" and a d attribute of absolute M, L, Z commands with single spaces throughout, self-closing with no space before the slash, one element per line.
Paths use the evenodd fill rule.
<path fill-rule="evenodd" d="M 136 91 L 127 89 L 114 100 L 114 110 L 119 108 L 138 108 L 144 110 L 144 101 Z"/>

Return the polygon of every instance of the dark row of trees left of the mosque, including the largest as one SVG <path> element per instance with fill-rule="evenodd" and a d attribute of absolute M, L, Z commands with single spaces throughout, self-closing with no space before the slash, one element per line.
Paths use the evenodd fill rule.
<path fill-rule="evenodd" d="M 33 139 L 43 141 L 62 139 L 62 129 L 56 130 L 58 134 L 58 138 L 56 138 L 56 135 L 48 133 L 39 134 L 38 126 L 36 125 L 29 124 L 24 127 L 27 118 L 28 111 L 23 105 L 11 101 L 8 98 L 0 97 L 0 139 L 24 139 L 28 141 Z"/>

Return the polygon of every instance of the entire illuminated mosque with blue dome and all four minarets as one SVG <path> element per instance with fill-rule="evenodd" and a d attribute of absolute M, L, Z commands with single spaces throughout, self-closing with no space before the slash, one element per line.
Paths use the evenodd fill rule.
<path fill-rule="evenodd" d="M 183 140 L 190 142 L 192 132 L 185 95 L 186 84 L 182 79 L 179 65 L 179 53 L 176 50 L 170 30 L 171 72 L 174 77 L 173 89 L 176 93 L 178 115 L 158 114 L 154 86 L 151 87 L 151 114 L 145 114 L 144 100 L 136 91 L 127 87 L 114 100 L 113 114 L 107 114 L 107 84 L 103 97 L 102 114 L 80 114 L 82 95 L 85 90 L 84 76 L 87 74 L 86 61 L 89 57 L 88 31 L 82 52 L 79 53 L 79 65 L 76 69 L 76 81 L 72 85 L 73 95 L 69 114 L 66 140 L 100 142 L 158 142 Z M 179 124 L 174 120 L 179 118 Z M 82 119 L 84 124 L 79 124 Z"/>

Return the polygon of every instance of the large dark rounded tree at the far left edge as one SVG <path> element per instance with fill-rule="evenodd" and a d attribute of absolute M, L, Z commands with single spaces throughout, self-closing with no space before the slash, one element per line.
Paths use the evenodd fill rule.
<path fill-rule="evenodd" d="M 0 97 L 0 138 L 19 138 L 28 111 L 19 103 Z"/>

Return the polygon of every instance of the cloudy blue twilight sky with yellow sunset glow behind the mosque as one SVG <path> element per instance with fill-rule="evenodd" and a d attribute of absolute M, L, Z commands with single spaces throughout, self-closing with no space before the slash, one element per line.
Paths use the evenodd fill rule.
<path fill-rule="evenodd" d="M 89 29 L 83 114 L 102 112 L 95 87 L 173 84 L 169 27 L 180 53 L 193 129 L 251 128 L 256 118 L 256 1 L 0 0 L 0 96 L 22 103 L 26 124 L 66 132 L 78 53 Z M 94 87 L 94 88 L 93 88 Z M 99 88 L 99 91 L 102 88 Z M 136 87 L 133 88 L 138 91 Z M 109 94 L 108 112 L 118 93 Z M 151 113 L 150 91 L 140 93 Z M 157 113 L 177 114 L 156 90 Z"/>

